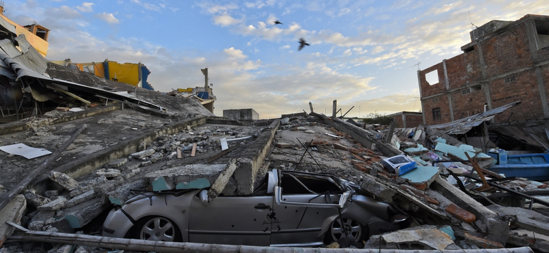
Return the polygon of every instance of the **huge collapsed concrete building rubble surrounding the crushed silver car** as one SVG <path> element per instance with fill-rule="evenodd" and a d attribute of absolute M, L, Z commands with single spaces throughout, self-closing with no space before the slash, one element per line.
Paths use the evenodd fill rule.
<path fill-rule="evenodd" d="M 98 235 L 106 211 L 143 191 L 215 188 L 223 196 L 248 196 L 273 169 L 340 176 L 413 220 L 409 228 L 364 241 L 371 252 L 547 252 L 549 182 L 489 172 L 493 158 L 486 151 L 450 136 L 519 103 L 432 127 L 358 127 L 337 118 L 335 106 L 331 117 L 311 109 L 255 120 L 251 109 L 252 119 L 229 119 L 215 117 L 213 103 L 210 109 L 181 94 L 187 92 L 136 89 L 48 63 L 24 36 L 4 38 L 0 48 L 2 85 L 17 102 L 15 114 L 23 101 L 34 104 L 25 118 L 0 125 L 0 232 L 10 252 L 201 251 L 199 243 L 151 245 Z M 197 96 L 211 92 L 207 69 L 202 72 L 205 88 Z M 399 156 L 415 168 L 404 172 L 384 163 Z M 226 168 L 233 170 L 225 174 Z M 202 252 L 275 251 L 205 247 Z M 276 251 L 283 250 L 317 249 Z"/>

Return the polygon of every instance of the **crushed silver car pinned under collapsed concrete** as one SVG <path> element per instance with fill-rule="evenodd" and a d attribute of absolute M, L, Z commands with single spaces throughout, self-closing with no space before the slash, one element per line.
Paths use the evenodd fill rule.
<path fill-rule="evenodd" d="M 103 236 L 233 245 L 320 246 L 359 243 L 406 226 L 407 216 L 326 174 L 268 172 L 249 196 L 207 189 L 148 192 L 113 209 Z"/>

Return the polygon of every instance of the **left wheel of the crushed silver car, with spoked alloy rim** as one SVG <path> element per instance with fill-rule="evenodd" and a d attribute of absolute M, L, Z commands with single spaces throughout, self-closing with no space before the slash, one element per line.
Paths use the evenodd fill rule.
<path fill-rule="evenodd" d="M 183 241 L 181 232 L 171 219 L 162 216 L 147 216 L 134 226 L 132 238 L 151 241 Z"/>

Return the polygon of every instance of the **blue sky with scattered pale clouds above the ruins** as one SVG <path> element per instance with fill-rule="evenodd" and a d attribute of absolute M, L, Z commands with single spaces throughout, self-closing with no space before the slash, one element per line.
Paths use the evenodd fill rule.
<path fill-rule="evenodd" d="M 460 53 L 491 20 L 549 14 L 549 1 L 5 1 L 20 25 L 50 29 L 49 60 L 141 62 L 155 90 L 204 86 L 259 118 L 332 101 L 349 117 L 421 111 L 417 70 Z M 275 25 L 280 21 L 281 25 Z M 471 25 L 472 24 L 472 25 Z M 310 46 L 298 51 L 299 39 Z"/>

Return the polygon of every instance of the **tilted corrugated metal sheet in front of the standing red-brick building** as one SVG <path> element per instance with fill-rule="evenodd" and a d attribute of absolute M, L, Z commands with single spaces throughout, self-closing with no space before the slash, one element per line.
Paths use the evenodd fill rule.
<path fill-rule="evenodd" d="M 461 118 L 459 120 L 454 120 L 452 122 L 447 122 L 443 124 L 437 124 L 431 126 L 433 129 L 437 129 L 449 135 L 458 135 L 469 132 L 473 127 L 477 127 L 482 124 L 482 122 L 489 121 L 493 117 L 501 114 L 507 109 L 519 104 L 520 101 L 515 101 L 513 103 L 491 109 L 489 111 L 484 111 L 482 114 L 476 114 L 474 116 L 469 116 L 467 118 Z"/>

